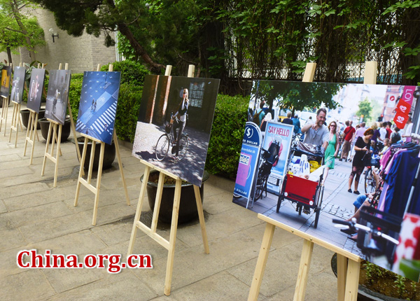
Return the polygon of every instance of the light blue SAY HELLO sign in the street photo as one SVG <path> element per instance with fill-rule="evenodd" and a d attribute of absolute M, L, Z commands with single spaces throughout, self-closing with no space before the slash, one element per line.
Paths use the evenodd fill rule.
<path fill-rule="evenodd" d="M 265 150 L 269 149 L 271 144 L 279 144 L 279 160 L 274 162 L 271 169 L 270 176 L 276 179 L 283 179 L 286 174 L 287 160 L 290 152 L 290 145 L 293 137 L 293 125 L 287 125 L 286 123 L 273 123 L 269 121 L 265 130 L 264 142 L 262 148 Z M 280 188 L 272 183 L 267 183 L 267 190 L 269 192 L 279 195 Z"/>

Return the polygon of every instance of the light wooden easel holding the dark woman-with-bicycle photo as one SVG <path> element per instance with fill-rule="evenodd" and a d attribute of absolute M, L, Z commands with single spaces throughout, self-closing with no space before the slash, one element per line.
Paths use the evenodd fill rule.
<path fill-rule="evenodd" d="M 167 66 L 165 71 L 165 76 L 169 76 L 171 73 L 172 66 Z M 194 76 L 194 65 L 190 65 L 188 69 L 188 77 Z M 176 242 L 176 230 L 178 229 L 178 215 L 179 215 L 179 203 L 181 201 L 181 182 L 182 180 L 179 176 L 175 176 L 170 172 L 167 172 L 163 169 L 154 167 L 150 163 L 140 160 L 141 163 L 146 165 L 146 169 L 144 171 L 143 176 L 143 183 L 141 184 L 140 196 L 139 196 L 139 203 L 137 204 L 137 211 L 136 216 L 134 217 L 134 224 L 132 228 L 132 234 L 130 237 L 130 244 L 128 245 L 128 255 L 132 254 L 134 241 L 136 240 L 137 236 L 137 228 L 141 231 L 145 232 L 146 235 L 157 241 L 161 246 L 168 250 L 168 259 L 167 259 L 167 272 L 165 276 L 165 295 L 169 295 L 171 293 L 171 283 L 172 283 L 172 271 L 174 269 L 174 254 L 175 254 L 175 242 Z M 143 207 L 144 196 L 146 194 L 146 186 L 148 182 L 148 177 L 151 172 L 151 169 L 156 169 L 160 172 L 159 175 L 159 182 L 158 182 L 158 191 L 156 193 L 155 199 L 155 207 L 153 209 L 153 218 L 151 228 L 148 228 L 144 223 L 141 223 L 140 216 L 141 216 L 141 208 Z M 169 236 L 169 241 L 167 239 L 161 237 L 156 233 L 156 228 L 158 227 L 158 216 L 160 211 L 160 202 L 162 199 L 162 191 L 163 191 L 163 183 L 165 181 L 165 176 L 169 176 L 172 179 L 176 180 L 175 183 L 175 193 L 174 193 L 174 207 L 172 209 L 172 222 L 171 222 L 171 234 Z M 204 252 L 209 254 L 209 242 L 207 241 L 207 231 L 206 231 L 206 224 L 204 221 L 204 214 L 203 214 L 203 207 L 201 202 L 201 195 L 200 195 L 200 188 L 198 186 L 194 186 L 194 193 L 195 193 L 195 201 L 197 203 L 197 211 L 198 216 L 200 218 L 200 226 L 202 230 L 202 237 L 203 237 L 203 244 L 204 244 Z"/>

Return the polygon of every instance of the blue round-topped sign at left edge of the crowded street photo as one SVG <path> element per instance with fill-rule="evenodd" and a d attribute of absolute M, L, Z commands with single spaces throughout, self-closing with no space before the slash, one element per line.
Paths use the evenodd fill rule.
<path fill-rule="evenodd" d="M 260 156 L 260 146 L 260 128 L 255 125 L 255 123 L 246 123 L 235 183 L 235 194 L 246 197 L 248 200 L 253 186 L 252 184 L 258 164 L 258 158 Z"/>

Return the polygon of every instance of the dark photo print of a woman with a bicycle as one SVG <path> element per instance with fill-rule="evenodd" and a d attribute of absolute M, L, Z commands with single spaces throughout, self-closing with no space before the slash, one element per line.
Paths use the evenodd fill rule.
<path fill-rule="evenodd" d="M 146 76 L 132 155 L 201 186 L 219 83 Z"/>

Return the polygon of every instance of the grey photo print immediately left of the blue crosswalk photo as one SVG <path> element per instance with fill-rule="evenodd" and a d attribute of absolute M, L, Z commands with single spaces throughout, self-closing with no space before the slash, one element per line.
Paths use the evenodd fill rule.
<path fill-rule="evenodd" d="M 70 70 L 50 71 L 47 102 L 45 104 L 45 118 L 57 121 L 61 125 L 64 125 L 64 120 L 66 119 L 70 78 Z"/>

